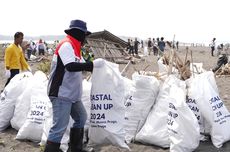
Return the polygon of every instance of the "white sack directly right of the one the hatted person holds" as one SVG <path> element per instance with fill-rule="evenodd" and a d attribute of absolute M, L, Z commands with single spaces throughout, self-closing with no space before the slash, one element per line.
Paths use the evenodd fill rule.
<path fill-rule="evenodd" d="M 130 98 L 126 101 L 125 112 L 125 140 L 130 143 L 140 131 L 155 103 L 159 92 L 159 81 L 153 76 L 132 75 L 133 86 L 130 89 Z"/>

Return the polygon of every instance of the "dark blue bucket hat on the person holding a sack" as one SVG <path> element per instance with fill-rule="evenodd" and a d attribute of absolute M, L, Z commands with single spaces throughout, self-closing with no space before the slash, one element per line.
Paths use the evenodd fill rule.
<path fill-rule="evenodd" d="M 86 22 L 84 22 L 82 20 L 72 20 L 70 22 L 69 28 L 66 29 L 65 32 L 68 32 L 71 29 L 79 29 L 79 30 L 85 32 L 86 35 L 91 34 L 91 32 L 87 30 Z"/>

